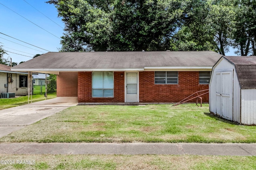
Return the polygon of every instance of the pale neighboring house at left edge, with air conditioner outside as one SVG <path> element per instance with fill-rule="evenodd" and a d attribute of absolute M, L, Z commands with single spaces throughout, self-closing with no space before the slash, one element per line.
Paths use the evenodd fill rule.
<path fill-rule="evenodd" d="M 27 95 L 28 73 L 12 71 L 10 66 L 0 64 L 0 94 L 2 93 L 15 93 L 15 96 Z M 5 97 L 3 94 L 1 96 Z"/>

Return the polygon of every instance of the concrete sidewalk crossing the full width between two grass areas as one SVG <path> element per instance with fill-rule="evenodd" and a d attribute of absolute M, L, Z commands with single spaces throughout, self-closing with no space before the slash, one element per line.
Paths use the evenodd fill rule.
<path fill-rule="evenodd" d="M 256 156 L 256 144 L 0 143 L 0 154 L 192 154 Z"/>

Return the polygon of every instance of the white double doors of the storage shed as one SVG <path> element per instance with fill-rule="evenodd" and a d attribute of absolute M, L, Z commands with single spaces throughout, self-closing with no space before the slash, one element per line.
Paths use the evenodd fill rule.
<path fill-rule="evenodd" d="M 232 71 L 216 72 L 216 114 L 233 119 L 233 74 Z"/>

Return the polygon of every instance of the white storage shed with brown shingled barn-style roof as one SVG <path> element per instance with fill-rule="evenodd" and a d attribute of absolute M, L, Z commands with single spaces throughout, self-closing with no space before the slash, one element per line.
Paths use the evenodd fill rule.
<path fill-rule="evenodd" d="M 256 57 L 222 56 L 210 80 L 210 112 L 245 125 L 256 125 Z"/>

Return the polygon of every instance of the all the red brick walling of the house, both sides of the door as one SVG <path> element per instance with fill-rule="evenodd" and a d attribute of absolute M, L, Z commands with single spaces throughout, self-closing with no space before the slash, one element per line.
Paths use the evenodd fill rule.
<path fill-rule="evenodd" d="M 123 74 L 123 76 L 121 76 Z M 139 72 L 140 102 L 179 102 L 192 93 L 208 89 L 199 84 L 199 72 L 178 72 L 178 84 L 154 84 L 154 71 Z M 124 72 L 114 72 L 114 98 L 92 98 L 92 72 L 60 72 L 57 96 L 78 96 L 78 102 L 124 102 Z M 209 95 L 202 96 L 203 102 Z M 192 100 L 190 102 L 196 102 Z"/>

